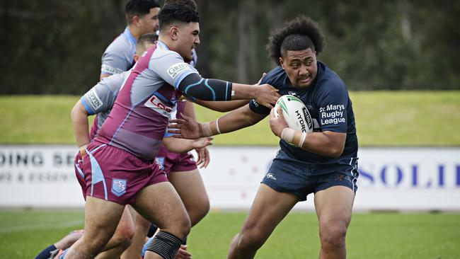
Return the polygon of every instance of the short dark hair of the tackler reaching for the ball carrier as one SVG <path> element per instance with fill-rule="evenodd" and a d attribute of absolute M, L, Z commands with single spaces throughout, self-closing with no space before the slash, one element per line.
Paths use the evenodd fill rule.
<path fill-rule="evenodd" d="M 160 32 L 175 22 L 200 22 L 198 12 L 185 4 L 167 4 L 166 6 L 163 6 L 158 15 L 158 19 L 160 23 Z"/>

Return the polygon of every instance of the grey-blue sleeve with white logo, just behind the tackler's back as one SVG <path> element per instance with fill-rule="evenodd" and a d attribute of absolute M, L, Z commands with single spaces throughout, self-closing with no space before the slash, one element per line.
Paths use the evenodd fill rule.
<path fill-rule="evenodd" d="M 81 97 L 86 112 L 89 115 L 110 110 L 115 103 L 117 94 L 125 79 L 125 73 L 109 76 L 93 86 Z"/>

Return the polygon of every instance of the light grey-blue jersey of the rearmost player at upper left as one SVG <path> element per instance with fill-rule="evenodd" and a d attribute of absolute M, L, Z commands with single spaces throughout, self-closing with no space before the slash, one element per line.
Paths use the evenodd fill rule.
<path fill-rule="evenodd" d="M 135 52 L 136 38 L 129 28 L 125 28 L 125 31 L 108 45 L 102 55 L 100 74 L 120 74 L 129 70 L 134 64 Z"/>

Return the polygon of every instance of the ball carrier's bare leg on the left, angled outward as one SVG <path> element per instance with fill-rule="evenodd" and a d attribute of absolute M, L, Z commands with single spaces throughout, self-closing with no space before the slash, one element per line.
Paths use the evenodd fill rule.
<path fill-rule="evenodd" d="M 275 227 L 299 201 L 287 192 L 277 192 L 260 184 L 257 195 L 241 231 L 230 244 L 227 258 L 254 258 Z"/>

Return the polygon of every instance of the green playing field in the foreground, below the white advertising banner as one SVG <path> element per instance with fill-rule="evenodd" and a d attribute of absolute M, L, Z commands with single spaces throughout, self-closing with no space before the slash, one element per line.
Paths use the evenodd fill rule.
<path fill-rule="evenodd" d="M 246 213 L 211 212 L 192 229 L 193 258 L 225 258 Z M 2 258 L 33 258 L 81 228 L 83 211 L 0 211 Z M 459 214 L 355 213 L 347 234 L 348 258 L 460 258 Z M 290 213 L 256 258 L 317 258 L 316 214 Z"/>

